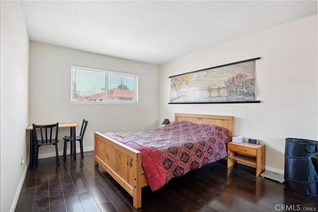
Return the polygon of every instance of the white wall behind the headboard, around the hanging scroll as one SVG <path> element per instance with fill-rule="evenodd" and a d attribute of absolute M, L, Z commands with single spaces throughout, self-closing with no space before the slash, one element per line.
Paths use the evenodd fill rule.
<path fill-rule="evenodd" d="M 169 76 L 256 57 L 261 103 L 168 104 Z M 233 115 L 235 135 L 266 144 L 267 169 L 283 172 L 285 138 L 318 140 L 317 13 L 163 64 L 159 76 L 160 120 L 176 112 Z"/>

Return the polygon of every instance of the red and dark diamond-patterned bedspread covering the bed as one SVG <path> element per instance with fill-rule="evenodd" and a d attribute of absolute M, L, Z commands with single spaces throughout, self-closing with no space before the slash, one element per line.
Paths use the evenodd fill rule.
<path fill-rule="evenodd" d="M 153 191 L 173 177 L 226 157 L 230 141 L 222 127 L 185 121 L 155 130 L 105 135 L 142 152 L 143 169 Z"/>

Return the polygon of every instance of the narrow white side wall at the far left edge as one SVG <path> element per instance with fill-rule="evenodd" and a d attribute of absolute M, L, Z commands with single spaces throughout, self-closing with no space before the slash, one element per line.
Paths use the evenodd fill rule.
<path fill-rule="evenodd" d="M 19 1 L 0 1 L 0 211 L 14 211 L 28 158 L 29 37 Z"/>

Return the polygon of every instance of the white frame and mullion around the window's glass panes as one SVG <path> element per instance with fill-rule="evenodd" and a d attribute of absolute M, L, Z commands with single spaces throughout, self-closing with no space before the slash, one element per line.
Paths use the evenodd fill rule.
<path fill-rule="evenodd" d="M 105 101 L 101 101 L 101 99 L 96 99 L 93 101 L 74 101 L 73 100 L 73 94 L 74 94 L 74 78 L 73 78 L 73 72 L 76 70 L 83 70 L 83 71 L 94 71 L 94 72 L 102 72 L 105 73 L 105 94 L 104 99 Z M 108 97 L 108 75 L 119 75 L 119 76 L 128 76 L 133 77 L 134 80 L 134 98 L 132 101 L 116 101 L 116 100 L 109 100 Z M 112 88 L 113 89 L 113 88 Z M 130 73 L 130 72 L 123 72 L 123 71 L 113 71 L 113 70 L 104 70 L 104 69 L 96 69 L 96 68 L 88 68 L 88 67 L 82 67 L 82 66 L 76 66 L 71 65 L 71 103 L 88 103 L 88 104 L 138 104 L 138 74 L 137 73 Z"/>

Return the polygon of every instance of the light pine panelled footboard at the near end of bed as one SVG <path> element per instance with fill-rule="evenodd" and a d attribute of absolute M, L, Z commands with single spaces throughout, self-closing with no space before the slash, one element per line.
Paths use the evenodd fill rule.
<path fill-rule="evenodd" d="M 141 152 L 101 133 L 94 133 L 94 162 L 112 176 L 132 197 L 136 209 L 141 207 L 141 188 L 148 185 L 142 174 Z"/>

